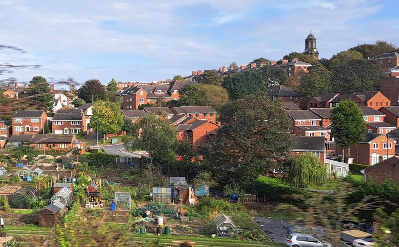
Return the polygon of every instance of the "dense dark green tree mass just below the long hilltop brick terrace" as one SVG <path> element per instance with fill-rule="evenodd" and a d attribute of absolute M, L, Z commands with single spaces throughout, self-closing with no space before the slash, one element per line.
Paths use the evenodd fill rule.
<path fill-rule="evenodd" d="M 222 87 L 227 89 L 231 100 L 241 99 L 247 95 L 260 95 L 266 91 L 265 80 L 261 73 L 245 71 L 225 76 Z"/>

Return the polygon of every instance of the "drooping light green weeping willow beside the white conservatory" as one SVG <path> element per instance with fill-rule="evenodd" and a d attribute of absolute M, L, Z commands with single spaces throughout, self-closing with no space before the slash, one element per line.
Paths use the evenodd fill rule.
<path fill-rule="evenodd" d="M 314 154 L 292 156 L 287 164 L 288 174 L 285 179 L 295 187 L 306 188 L 310 183 L 321 184 L 327 181 L 327 168 Z"/>

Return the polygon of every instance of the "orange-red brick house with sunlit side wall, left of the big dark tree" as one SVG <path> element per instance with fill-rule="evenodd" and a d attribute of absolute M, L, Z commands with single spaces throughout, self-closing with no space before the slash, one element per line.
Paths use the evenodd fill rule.
<path fill-rule="evenodd" d="M 211 121 L 199 120 L 195 117 L 186 117 L 176 124 L 176 127 L 178 141 L 189 142 L 193 149 L 203 147 L 211 142 L 216 136 L 216 131 L 220 128 Z"/>

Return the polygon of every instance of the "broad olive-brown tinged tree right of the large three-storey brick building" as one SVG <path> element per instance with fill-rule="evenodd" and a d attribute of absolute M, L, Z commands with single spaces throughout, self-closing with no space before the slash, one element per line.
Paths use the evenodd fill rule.
<path fill-rule="evenodd" d="M 185 85 L 179 90 L 179 106 L 210 105 L 216 111 L 229 102 L 227 90 L 210 84 Z"/>

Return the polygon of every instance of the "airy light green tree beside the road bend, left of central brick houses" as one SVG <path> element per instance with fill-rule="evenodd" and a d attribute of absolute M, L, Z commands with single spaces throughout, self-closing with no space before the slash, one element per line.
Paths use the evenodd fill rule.
<path fill-rule="evenodd" d="M 140 135 L 139 135 L 140 133 Z M 133 131 L 122 138 L 126 149 L 145 150 L 148 152 L 151 163 L 157 153 L 170 150 L 177 139 L 177 132 L 174 126 L 171 126 L 168 118 L 157 117 L 150 113 L 144 116 L 140 121 L 133 124 Z"/>

